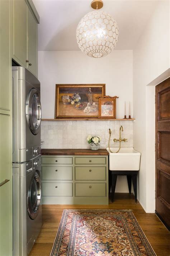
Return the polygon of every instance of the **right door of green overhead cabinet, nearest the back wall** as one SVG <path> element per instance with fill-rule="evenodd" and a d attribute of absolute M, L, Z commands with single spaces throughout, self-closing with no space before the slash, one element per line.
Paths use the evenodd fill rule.
<path fill-rule="evenodd" d="M 37 21 L 27 6 L 28 69 L 37 76 Z"/>

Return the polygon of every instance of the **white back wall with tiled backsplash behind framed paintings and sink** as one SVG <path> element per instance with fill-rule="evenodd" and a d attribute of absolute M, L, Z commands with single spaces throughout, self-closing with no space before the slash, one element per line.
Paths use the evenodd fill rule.
<path fill-rule="evenodd" d="M 132 50 L 114 50 L 101 59 L 93 59 L 81 51 L 39 51 L 38 79 L 41 82 L 42 118 L 55 116 L 56 84 L 106 84 L 106 95 L 119 96 L 117 118 L 124 117 L 124 101 L 132 106 L 133 83 Z M 127 111 L 127 115 L 128 115 Z M 131 116 L 133 111 L 131 108 Z M 108 144 L 108 128 L 112 138 L 119 138 L 119 127 L 123 125 L 123 146 L 133 147 L 132 121 L 43 121 L 43 148 L 87 148 L 86 136 L 102 136 L 101 148 Z M 77 138 L 78 137 L 78 138 Z M 76 141 L 77 140 L 77 141 Z M 116 144 L 117 145 L 117 144 Z M 128 192 L 125 176 L 119 176 L 116 192 Z"/>

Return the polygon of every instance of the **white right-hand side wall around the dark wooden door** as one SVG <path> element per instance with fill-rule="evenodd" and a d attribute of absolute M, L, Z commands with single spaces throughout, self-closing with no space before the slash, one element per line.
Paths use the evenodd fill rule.
<path fill-rule="evenodd" d="M 154 95 L 156 78 L 170 67 L 169 44 L 169 1 L 159 1 L 133 51 L 133 145 L 142 153 L 138 199 L 146 212 L 155 211 Z"/>

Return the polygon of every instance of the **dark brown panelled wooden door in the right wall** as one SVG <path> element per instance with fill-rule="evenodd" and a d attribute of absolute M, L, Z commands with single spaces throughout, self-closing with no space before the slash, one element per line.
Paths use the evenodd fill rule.
<path fill-rule="evenodd" d="M 156 86 L 156 214 L 170 228 L 170 78 Z"/>

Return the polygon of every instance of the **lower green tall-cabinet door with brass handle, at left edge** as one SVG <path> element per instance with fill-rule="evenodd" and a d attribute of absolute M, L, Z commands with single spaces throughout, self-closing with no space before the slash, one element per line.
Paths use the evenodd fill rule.
<path fill-rule="evenodd" d="M 10 172 L 10 116 L 0 114 L 0 255 L 2 256 L 12 254 Z M 9 181 L 5 183 L 7 180 Z"/>

